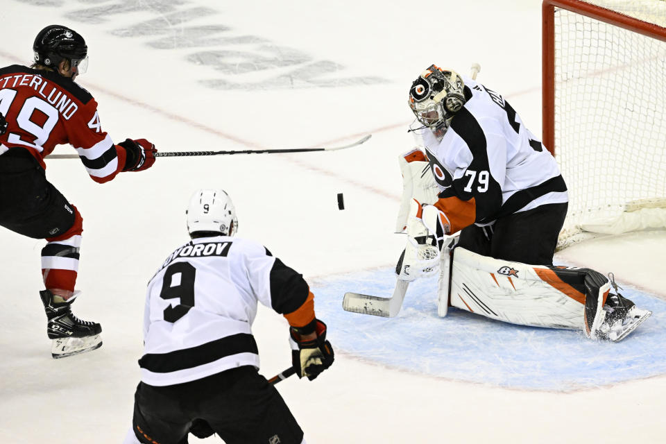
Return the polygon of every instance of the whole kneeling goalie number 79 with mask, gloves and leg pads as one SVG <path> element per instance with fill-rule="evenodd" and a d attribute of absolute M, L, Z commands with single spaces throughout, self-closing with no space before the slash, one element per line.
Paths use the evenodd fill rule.
<path fill-rule="evenodd" d="M 424 151 L 400 159 L 397 228 L 408 241 L 396 273 L 409 282 L 441 271 L 440 316 L 452 306 L 611 341 L 650 316 L 601 273 L 553 266 L 567 187 L 554 157 L 500 94 L 432 65 L 411 85 L 409 107 Z"/>

